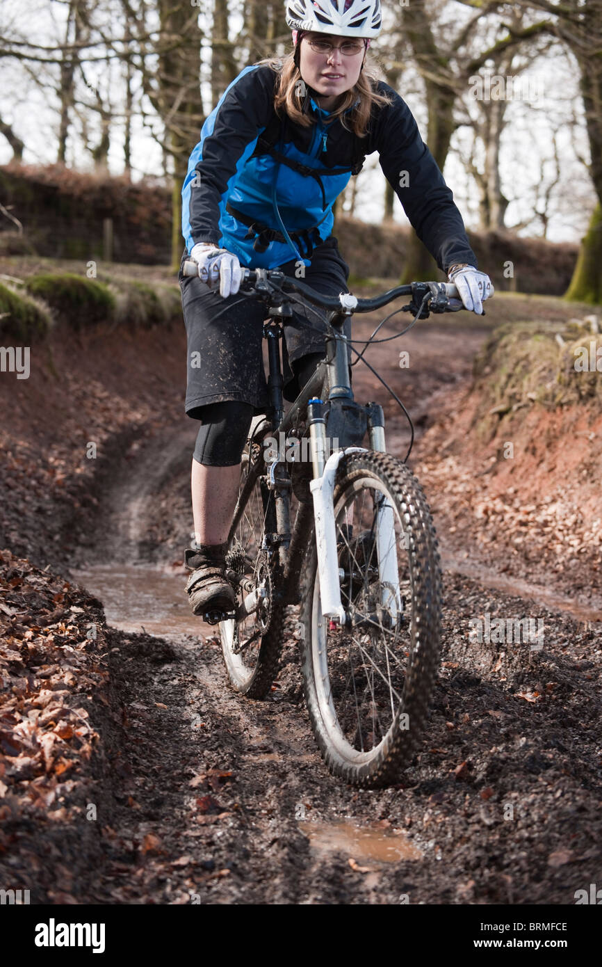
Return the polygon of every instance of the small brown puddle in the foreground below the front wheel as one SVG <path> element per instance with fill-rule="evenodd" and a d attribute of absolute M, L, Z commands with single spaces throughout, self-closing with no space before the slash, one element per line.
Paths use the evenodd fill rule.
<path fill-rule="evenodd" d="M 349 820 L 337 823 L 304 821 L 300 829 L 309 837 L 310 848 L 320 858 L 342 853 L 357 863 L 422 859 L 420 850 L 406 836 L 374 826 L 358 826 Z"/>

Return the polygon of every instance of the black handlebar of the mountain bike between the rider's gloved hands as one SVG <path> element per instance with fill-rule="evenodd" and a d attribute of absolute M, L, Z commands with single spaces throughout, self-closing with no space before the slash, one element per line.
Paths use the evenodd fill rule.
<path fill-rule="evenodd" d="M 198 275 L 198 264 L 193 259 L 186 259 L 182 272 L 186 277 L 194 277 Z M 462 304 L 455 307 L 448 303 L 449 299 L 459 299 L 458 290 L 452 282 L 411 282 L 409 285 L 397 285 L 372 299 L 358 299 L 350 292 L 341 292 L 338 296 L 325 296 L 309 285 L 305 285 L 298 278 L 285 276 L 279 269 L 244 268 L 241 287 L 255 287 L 259 292 L 262 290 L 269 292 L 268 283 L 270 281 L 278 282 L 280 288 L 284 290 L 288 288 L 290 291 L 299 292 L 308 302 L 320 308 L 343 308 L 351 309 L 353 312 L 372 312 L 375 309 L 387 306 L 388 303 L 399 298 L 399 296 L 413 296 L 420 299 L 420 297 L 424 298 L 429 292 L 431 298 L 428 300 L 426 308 L 430 311 L 455 312 L 459 308 L 464 308 Z"/>

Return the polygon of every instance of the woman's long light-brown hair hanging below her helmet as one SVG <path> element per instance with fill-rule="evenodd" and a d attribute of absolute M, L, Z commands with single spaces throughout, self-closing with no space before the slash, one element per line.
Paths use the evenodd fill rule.
<path fill-rule="evenodd" d="M 301 39 L 298 43 L 301 43 Z M 278 74 L 277 87 L 275 89 L 273 105 L 276 112 L 280 113 L 280 108 L 284 110 L 288 117 L 306 128 L 314 123 L 313 118 L 304 114 L 301 105 L 304 100 L 304 87 L 301 71 L 295 63 L 295 51 L 289 53 L 284 60 L 279 57 L 264 57 L 257 62 L 261 65 L 268 65 Z M 350 91 L 341 95 L 342 101 L 336 110 L 332 111 L 330 117 L 334 120 L 340 117 L 343 128 L 353 131 L 358 137 L 364 137 L 367 133 L 368 119 L 373 104 L 382 106 L 391 103 L 390 95 L 379 94 L 376 85 L 379 80 L 376 65 L 371 60 L 366 51 L 364 65 L 359 72 L 358 80 Z M 299 83 L 301 81 L 301 84 Z M 359 103 L 348 115 L 344 112 L 359 99 Z"/>

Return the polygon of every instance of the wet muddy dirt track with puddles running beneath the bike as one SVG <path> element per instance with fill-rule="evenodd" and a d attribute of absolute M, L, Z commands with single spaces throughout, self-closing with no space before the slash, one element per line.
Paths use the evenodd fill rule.
<path fill-rule="evenodd" d="M 459 322 L 426 332 L 404 341 L 409 370 L 390 344 L 369 357 L 401 390 L 418 436 L 470 379 L 486 335 Z M 358 398 L 384 401 L 358 369 Z M 100 598 L 106 612 L 103 680 L 85 706 L 99 737 L 85 802 L 98 822 L 90 833 L 68 795 L 52 835 L 5 814 L 3 875 L 26 886 L 33 854 L 45 870 L 37 902 L 126 904 L 573 904 L 601 883 L 601 625 L 549 610 L 536 592 L 516 597 L 511 580 L 502 592 L 445 571 L 444 653 L 422 751 L 397 785 L 341 785 L 310 731 L 294 613 L 272 694 L 253 702 L 229 691 L 215 630 L 187 612 L 196 425 L 168 396 L 164 423 L 142 414 L 129 439 L 122 431 L 72 525 L 69 557 L 45 559 L 82 610 Z M 402 456 L 407 433 L 394 404 L 386 411 L 388 449 Z M 433 456 L 424 439 L 416 460 Z M 44 566 L 40 542 L 35 556 Z M 542 619 L 543 648 L 469 641 L 469 622 L 485 615 Z"/>

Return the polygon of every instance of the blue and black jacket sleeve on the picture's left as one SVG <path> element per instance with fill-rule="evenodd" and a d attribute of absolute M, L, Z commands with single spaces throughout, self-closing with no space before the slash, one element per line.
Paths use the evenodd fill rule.
<path fill-rule="evenodd" d="M 182 189 L 182 234 L 188 251 L 198 242 L 219 244 L 219 204 L 272 117 L 274 79 L 269 66 L 245 68 L 205 121 Z"/>

